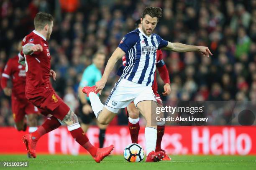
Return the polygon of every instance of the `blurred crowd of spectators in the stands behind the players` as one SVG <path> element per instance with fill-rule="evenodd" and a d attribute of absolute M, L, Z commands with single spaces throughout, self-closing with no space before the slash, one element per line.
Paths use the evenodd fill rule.
<path fill-rule="evenodd" d="M 103 51 L 108 59 L 146 6 L 163 9 L 154 33 L 170 42 L 208 46 L 213 53 L 207 58 L 197 52 L 163 51 L 172 88 L 164 100 L 256 101 L 254 0 L 0 0 L 0 72 L 33 30 L 36 13 L 51 13 L 55 20 L 49 47 L 57 74 L 52 84 L 77 111 L 77 88 L 93 54 Z M 102 102 L 119 78 L 115 73 L 120 65 L 108 79 Z M 164 84 L 157 79 L 161 94 Z M 0 125 L 13 125 L 10 98 L 3 91 L 0 98 Z M 121 112 L 113 124 L 127 123 Z"/>

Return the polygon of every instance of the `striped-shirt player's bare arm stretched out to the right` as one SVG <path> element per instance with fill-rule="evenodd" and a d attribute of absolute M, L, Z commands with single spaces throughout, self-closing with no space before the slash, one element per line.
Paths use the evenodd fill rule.
<path fill-rule="evenodd" d="M 164 48 L 164 50 L 171 50 L 175 52 L 189 52 L 189 51 L 200 51 L 203 56 L 209 57 L 212 55 L 208 47 L 203 47 L 203 46 L 190 46 L 187 44 L 182 44 L 182 43 L 171 43 L 168 41 L 168 45 Z"/>

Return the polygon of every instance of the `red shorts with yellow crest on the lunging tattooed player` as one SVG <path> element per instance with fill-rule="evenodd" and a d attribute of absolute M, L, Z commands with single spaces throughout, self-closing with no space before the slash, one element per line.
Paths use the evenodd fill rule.
<path fill-rule="evenodd" d="M 57 119 L 63 120 L 70 110 L 67 104 L 51 89 L 36 95 L 26 94 L 26 97 L 38 107 L 40 113 L 44 116 L 51 114 Z"/>

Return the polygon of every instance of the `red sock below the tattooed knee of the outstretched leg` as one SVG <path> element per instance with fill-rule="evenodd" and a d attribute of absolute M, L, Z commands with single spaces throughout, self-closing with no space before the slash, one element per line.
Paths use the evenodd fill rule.
<path fill-rule="evenodd" d="M 97 147 L 93 146 L 81 127 L 70 131 L 72 137 L 84 147 L 93 157 L 97 153 Z"/>

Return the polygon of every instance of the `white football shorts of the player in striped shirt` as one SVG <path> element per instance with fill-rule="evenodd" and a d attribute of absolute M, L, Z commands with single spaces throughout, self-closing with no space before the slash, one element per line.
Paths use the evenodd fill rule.
<path fill-rule="evenodd" d="M 140 101 L 152 100 L 156 101 L 155 94 L 151 86 L 143 86 L 126 79 L 119 79 L 107 101 L 105 102 L 105 107 L 113 113 L 118 113 L 119 109 L 123 109 L 131 103 L 134 102 L 135 106 Z"/>

